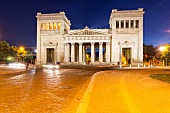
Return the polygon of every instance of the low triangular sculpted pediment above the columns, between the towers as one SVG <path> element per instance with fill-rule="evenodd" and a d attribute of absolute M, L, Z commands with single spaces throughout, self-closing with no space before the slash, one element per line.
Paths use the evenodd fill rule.
<path fill-rule="evenodd" d="M 106 35 L 107 32 L 98 29 L 89 29 L 87 26 L 82 30 L 73 30 L 67 35 Z"/>

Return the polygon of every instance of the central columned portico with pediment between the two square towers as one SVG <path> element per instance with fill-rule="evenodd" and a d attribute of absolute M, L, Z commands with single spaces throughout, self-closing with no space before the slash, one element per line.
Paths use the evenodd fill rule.
<path fill-rule="evenodd" d="M 86 59 L 88 50 L 90 52 L 90 64 L 94 62 L 109 63 L 111 35 L 107 31 L 108 29 L 89 29 L 86 26 L 82 30 L 72 30 L 64 35 L 64 61 L 79 62 L 80 64 L 89 63 Z M 98 49 L 99 56 L 96 55 L 96 49 Z"/>

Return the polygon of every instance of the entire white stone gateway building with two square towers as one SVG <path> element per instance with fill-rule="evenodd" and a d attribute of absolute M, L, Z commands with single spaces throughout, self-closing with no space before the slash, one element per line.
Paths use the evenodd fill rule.
<path fill-rule="evenodd" d="M 64 12 L 37 13 L 37 65 L 142 64 L 143 8 L 113 9 L 110 28 L 70 30 Z"/>

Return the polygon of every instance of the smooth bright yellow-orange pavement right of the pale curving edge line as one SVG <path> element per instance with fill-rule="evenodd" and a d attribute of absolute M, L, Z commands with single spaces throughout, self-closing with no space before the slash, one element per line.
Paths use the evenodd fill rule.
<path fill-rule="evenodd" d="M 169 69 L 110 70 L 96 73 L 77 113 L 169 113 L 170 84 L 149 77 Z"/>

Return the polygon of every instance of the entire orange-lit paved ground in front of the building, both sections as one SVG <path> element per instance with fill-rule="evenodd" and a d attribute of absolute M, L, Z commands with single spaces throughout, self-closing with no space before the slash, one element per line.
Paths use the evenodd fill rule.
<path fill-rule="evenodd" d="M 170 111 L 170 84 L 149 77 L 151 74 L 170 74 L 169 68 L 65 68 L 30 68 L 26 71 L 24 68 L 0 67 L 0 112 Z"/>

